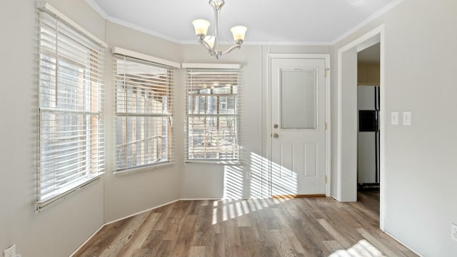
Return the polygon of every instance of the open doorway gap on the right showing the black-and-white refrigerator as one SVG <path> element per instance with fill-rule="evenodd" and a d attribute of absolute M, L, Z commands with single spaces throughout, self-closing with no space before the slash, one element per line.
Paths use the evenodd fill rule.
<path fill-rule="evenodd" d="M 357 53 L 357 201 L 379 215 L 380 43 Z M 377 205 L 377 206 L 375 206 Z"/>

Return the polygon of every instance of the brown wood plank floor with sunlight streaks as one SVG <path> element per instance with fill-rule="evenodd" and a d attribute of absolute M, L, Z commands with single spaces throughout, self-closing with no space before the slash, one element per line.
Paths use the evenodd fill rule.
<path fill-rule="evenodd" d="M 379 194 L 178 201 L 101 228 L 74 257 L 416 256 L 382 233 Z"/>

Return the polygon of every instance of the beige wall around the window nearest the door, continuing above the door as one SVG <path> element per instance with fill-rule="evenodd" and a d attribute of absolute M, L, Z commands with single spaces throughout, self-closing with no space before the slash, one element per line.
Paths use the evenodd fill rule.
<path fill-rule="evenodd" d="M 241 165 L 186 163 L 181 181 L 181 198 L 270 197 L 268 186 L 266 124 L 268 103 L 267 54 L 328 54 L 330 46 L 242 46 L 219 61 L 208 56 L 203 46 L 181 46 L 183 63 L 241 64 Z M 181 85 L 184 89 L 184 84 Z M 184 90 L 179 94 L 184 97 Z M 184 110 L 183 110 L 184 111 Z M 184 120 L 184 114 L 180 120 Z M 184 141 L 184 138 L 180 138 Z"/>

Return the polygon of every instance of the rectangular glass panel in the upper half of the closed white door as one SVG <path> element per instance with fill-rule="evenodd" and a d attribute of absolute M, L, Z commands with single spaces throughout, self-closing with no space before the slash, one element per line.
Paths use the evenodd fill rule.
<path fill-rule="evenodd" d="M 316 129 L 316 69 L 281 69 L 281 129 Z"/>

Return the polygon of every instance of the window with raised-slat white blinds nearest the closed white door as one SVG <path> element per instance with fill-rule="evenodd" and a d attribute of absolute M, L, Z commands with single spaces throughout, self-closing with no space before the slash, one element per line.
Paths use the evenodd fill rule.
<path fill-rule="evenodd" d="M 186 69 L 186 160 L 239 161 L 239 69 Z"/>

